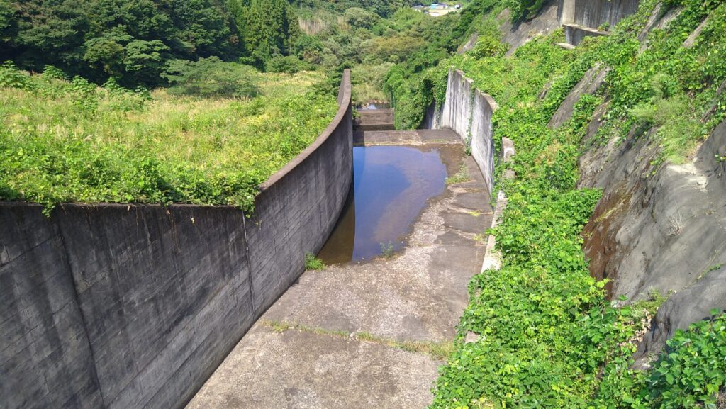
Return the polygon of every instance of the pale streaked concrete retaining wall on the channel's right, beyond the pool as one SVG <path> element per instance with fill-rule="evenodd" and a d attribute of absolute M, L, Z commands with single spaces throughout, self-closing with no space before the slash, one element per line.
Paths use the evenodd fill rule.
<path fill-rule="evenodd" d="M 423 121 L 429 129 L 452 129 L 471 147 L 471 155 L 489 191 L 494 186 L 492 114 L 497 108 L 497 102 L 475 89 L 473 81 L 462 71 L 449 70 L 444 104 L 439 110 L 429 108 Z"/>

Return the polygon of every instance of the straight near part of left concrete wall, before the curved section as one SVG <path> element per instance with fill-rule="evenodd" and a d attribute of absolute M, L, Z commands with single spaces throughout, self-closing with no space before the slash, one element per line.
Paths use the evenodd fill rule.
<path fill-rule="evenodd" d="M 48 219 L 0 205 L 5 408 L 188 400 L 254 320 L 243 217 L 65 205 Z"/>

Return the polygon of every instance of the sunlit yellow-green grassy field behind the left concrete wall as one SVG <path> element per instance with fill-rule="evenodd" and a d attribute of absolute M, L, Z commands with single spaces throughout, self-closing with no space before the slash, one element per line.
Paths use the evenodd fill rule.
<path fill-rule="evenodd" d="M 113 80 L 104 86 L 68 81 L 52 68 L 30 76 L 4 64 L 0 198 L 42 203 L 46 211 L 59 202 L 250 211 L 257 186 L 307 147 L 338 105 L 316 92 L 324 79 L 318 73 L 261 74 L 224 63 L 219 73 L 200 78 L 219 74 L 229 83 L 187 82 L 200 64 L 180 74 L 178 86 L 152 93 L 131 92 Z M 229 98 L 240 92 L 258 95 Z"/>

